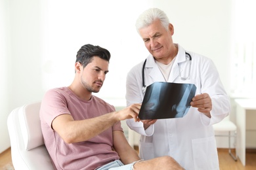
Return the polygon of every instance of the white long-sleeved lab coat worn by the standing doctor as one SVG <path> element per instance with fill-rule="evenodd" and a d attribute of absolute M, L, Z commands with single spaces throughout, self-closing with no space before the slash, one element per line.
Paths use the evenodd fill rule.
<path fill-rule="evenodd" d="M 183 118 L 161 119 L 148 127 L 146 131 L 142 122 L 127 120 L 127 125 L 140 133 L 140 158 L 148 160 L 159 156 L 172 156 L 185 169 L 219 169 L 217 146 L 213 124 L 220 122 L 230 112 L 230 100 L 226 94 L 219 73 L 213 61 L 204 56 L 188 52 L 192 57 L 189 80 L 181 80 L 179 66 L 185 61 L 185 50 L 178 45 L 176 56 L 168 82 L 195 84 L 196 94 L 208 93 L 213 109 L 208 118 L 196 108 L 190 107 Z M 142 65 L 135 65 L 127 75 L 127 105 L 142 103 Z M 152 55 L 148 56 L 144 70 L 145 84 L 165 82 Z M 171 95 L 171 94 L 170 94 Z"/>

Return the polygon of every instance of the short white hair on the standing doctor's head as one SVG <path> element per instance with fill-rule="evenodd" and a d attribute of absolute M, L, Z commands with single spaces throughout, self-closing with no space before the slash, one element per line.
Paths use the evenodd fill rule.
<path fill-rule="evenodd" d="M 139 30 L 141 28 L 147 27 L 148 25 L 152 24 L 154 20 L 157 19 L 161 21 L 161 24 L 163 25 L 163 27 L 165 27 L 166 30 L 169 29 L 169 18 L 167 17 L 165 12 L 157 8 L 152 8 L 145 10 L 144 12 L 142 12 L 142 14 L 140 14 L 135 24 L 137 32 L 139 33 Z"/>

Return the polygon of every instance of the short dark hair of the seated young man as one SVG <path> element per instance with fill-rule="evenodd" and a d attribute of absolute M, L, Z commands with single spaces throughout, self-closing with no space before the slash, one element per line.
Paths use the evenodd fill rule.
<path fill-rule="evenodd" d="M 77 52 L 75 63 L 79 62 L 83 67 L 86 67 L 87 64 L 91 63 L 95 56 L 109 62 L 111 55 L 105 48 L 94 46 L 92 44 L 85 44 L 84 46 L 81 46 L 80 50 Z"/>

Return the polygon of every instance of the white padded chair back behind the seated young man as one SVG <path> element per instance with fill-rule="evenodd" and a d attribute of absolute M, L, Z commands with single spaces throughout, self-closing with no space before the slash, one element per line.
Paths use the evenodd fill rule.
<path fill-rule="evenodd" d="M 8 116 L 7 126 L 14 169 L 54 169 L 43 143 L 40 106 L 40 101 L 30 103 L 12 110 Z"/>

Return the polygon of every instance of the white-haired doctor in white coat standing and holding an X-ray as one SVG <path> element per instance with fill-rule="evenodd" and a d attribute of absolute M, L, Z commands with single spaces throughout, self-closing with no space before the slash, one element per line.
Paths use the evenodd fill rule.
<path fill-rule="evenodd" d="M 212 125 L 229 114 L 230 101 L 213 61 L 173 43 L 173 25 L 160 9 L 144 11 L 136 27 L 150 55 L 127 75 L 127 105 L 142 103 L 143 86 L 153 82 L 196 85 L 192 107 L 183 118 L 127 120 L 127 125 L 141 135 L 140 158 L 169 155 L 185 169 L 219 169 Z"/>

